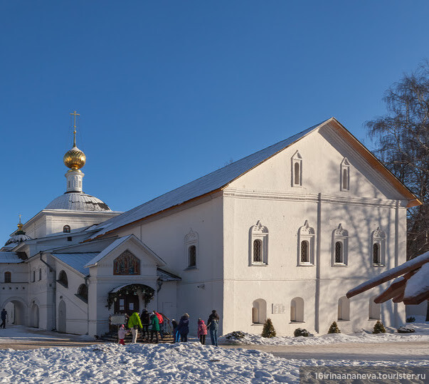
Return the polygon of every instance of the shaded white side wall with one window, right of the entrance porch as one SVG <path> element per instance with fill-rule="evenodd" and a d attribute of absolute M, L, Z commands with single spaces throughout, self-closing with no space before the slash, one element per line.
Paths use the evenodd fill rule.
<path fill-rule="evenodd" d="M 119 232 L 121 237 L 134 233 L 166 261 L 168 271 L 181 276 L 173 316 L 178 320 L 183 313 L 189 313 L 191 324 L 196 324 L 198 317 L 207 320 L 212 309 L 220 316 L 223 312 L 222 198 L 201 201 Z M 196 269 L 186 269 L 184 238 L 191 229 L 198 233 Z M 198 288 L 202 285 L 203 288 Z M 162 303 L 158 304 L 161 311 Z M 191 326 L 190 333 L 196 334 L 196 327 Z"/>

